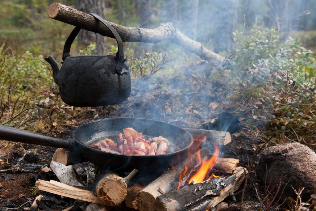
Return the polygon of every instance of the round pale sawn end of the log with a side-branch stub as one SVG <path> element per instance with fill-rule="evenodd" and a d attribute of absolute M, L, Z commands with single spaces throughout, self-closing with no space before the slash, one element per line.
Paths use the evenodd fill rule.
<path fill-rule="evenodd" d="M 109 178 L 98 189 L 99 199 L 108 206 L 117 206 L 127 195 L 126 183 L 118 178 Z"/>

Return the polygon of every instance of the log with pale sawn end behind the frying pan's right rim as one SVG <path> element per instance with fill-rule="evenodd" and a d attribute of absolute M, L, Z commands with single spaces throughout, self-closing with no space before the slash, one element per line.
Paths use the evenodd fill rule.
<path fill-rule="evenodd" d="M 198 137 L 207 136 L 206 141 L 217 145 L 225 146 L 232 141 L 230 133 L 227 131 L 204 130 L 194 128 L 183 128 L 193 136 L 193 140 L 198 142 Z"/>

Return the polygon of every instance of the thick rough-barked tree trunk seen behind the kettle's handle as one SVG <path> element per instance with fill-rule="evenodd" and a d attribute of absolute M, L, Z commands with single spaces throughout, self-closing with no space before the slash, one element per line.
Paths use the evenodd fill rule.
<path fill-rule="evenodd" d="M 95 13 L 105 19 L 105 1 L 104 0 L 77 0 L 76 8 L 86 13 Z M 92 52 L 95 55 L 106 54 L 106 37 L 94 34 L 86 30 L 81 30 L 78 34 L 78 44 L 88 46 L 90 42 L 95 42 L 95 49 Z"/>

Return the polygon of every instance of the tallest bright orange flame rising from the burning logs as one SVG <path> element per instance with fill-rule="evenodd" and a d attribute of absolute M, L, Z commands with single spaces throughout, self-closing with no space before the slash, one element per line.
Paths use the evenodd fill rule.
<path fill-rule="evenodd" d="M 189 183 L 191 183 L 191 181 L 193 181 L 193 184 L 203 182 L 205 180 L 207 173 L 209 173 L 213 166 L 216 164 L 218 155 L 219 147 L 215 145 L 215 150 L 212 157 L 207 161 L 202 161 L 202 165 L 197 170 L 197 172 L 190 178 Z"/>

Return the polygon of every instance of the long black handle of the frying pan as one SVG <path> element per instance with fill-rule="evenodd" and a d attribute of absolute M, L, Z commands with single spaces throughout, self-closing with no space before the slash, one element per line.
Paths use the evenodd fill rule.
<path fill-rule="evenodd" d="M 35 144 L 43 146 L 53 146 L 58 148 L 70 148 L 71 142 L 54 138 L 40 133 L 34 133 L 27 130 L 21 130 L 14 127 L 0 125 L 0 140 L 22 142 L 26 144 Z"/>

